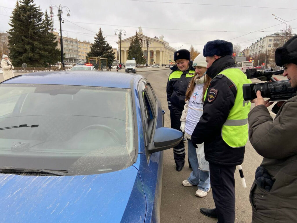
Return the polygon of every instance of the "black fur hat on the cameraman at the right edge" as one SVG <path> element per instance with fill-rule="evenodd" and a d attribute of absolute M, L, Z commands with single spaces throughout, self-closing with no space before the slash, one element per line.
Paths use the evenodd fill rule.
<path fill-rule="evenodd" d="M 275 64 L 277 66 L 281 67 L 289 63 L 297 64 L 297 35 L 275 50 Z"/>

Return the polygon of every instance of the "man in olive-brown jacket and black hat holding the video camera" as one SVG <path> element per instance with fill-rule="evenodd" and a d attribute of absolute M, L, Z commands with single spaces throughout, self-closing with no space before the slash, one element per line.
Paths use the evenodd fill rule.
<path fill-rule="evenodd" d="M 276 65 L 297 87 L 297 35 L 275 51 Z M 261 92 L 248 115 L 249 140 L 263 156 L 250 191 L 252 222 L 296 222 L 297 219 L 297 96 L 280 107 L 273 120 Z"/>

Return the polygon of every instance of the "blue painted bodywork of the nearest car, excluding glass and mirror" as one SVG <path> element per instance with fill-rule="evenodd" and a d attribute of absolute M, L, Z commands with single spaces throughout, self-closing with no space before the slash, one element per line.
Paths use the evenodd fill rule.
<path fill-rule="evenodd" d="M 0 222 L 159 222 L 163 151 L 146 154 L 138 83 L 116 72 L 39 72 L 1 84 L 59 84 L 131 89 L 135 163 L 116 172 L 78 176 L 0 174 Z M 145 79 L 144 79 L 145 80 Z M 158 99 L 157 99 L 158 100 Z M 156 128 L 162 127 L 158 100 Z M 148 156 L 148 157 L 147 157 Z"/>

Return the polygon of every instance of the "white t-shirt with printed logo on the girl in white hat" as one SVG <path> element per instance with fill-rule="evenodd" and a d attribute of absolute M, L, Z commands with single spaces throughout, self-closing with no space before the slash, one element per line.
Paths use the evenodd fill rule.
<path fill-rule="evenodd" d="M 203 114 L 203 85 L 196 84 L 192 92 L 191 98 L 189 99 L 188 113 L 186 117 L 185 132 L 192 135 L 197 123 Z"/>

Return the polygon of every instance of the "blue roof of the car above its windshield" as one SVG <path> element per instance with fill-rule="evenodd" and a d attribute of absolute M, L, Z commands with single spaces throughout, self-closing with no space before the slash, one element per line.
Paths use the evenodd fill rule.
<path fill-rule="evenodd" d="M 141 78 L 143 76 L 138 74 L 111 71 L 53 71 L 19 75 L 1 84 L 59 84 L 131 89 L 131 81 L 135 82 Z"/>

